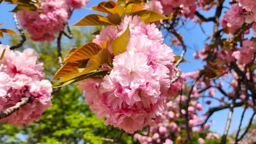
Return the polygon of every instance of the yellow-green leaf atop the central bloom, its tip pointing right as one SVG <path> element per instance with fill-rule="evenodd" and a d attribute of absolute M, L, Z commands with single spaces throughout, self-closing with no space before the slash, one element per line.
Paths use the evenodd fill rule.
<path fill-rule="evenodd" d="M 169 19 L 169 17 L 165 17 L 160 13 L 157 13 L 155 11 L 150 11 L 150 10 L 141 10 L 141 11 L 132 13 L 132 15 L 140 16 L 140 20 L 144 20 L 145 23 Z"/>

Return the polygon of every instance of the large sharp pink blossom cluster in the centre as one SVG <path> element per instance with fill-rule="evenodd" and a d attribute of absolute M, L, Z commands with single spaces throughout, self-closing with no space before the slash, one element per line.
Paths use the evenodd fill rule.
<path fill-rule="evenodd" d="M 175 72 L 174 54 L 163 43 L 162 33 L 155 24 L 145 24 L 139 16 L 125 16 L 118 28 L 102 29 L 93 42 L 100 44 L 108 37 L 111 51 L 111 42 L 124 33 L 128 24 L 131 38 L 127 51 L 113 56 L 110 74 L 103 79 L 86 79 L 79 88 L 84 90 L 85 102 L 98 118 L 106 117 L 106 125 L 133 133 L 164 112 L 164 100 Z M 182 86 L 177 83 L 171 92 Z"/>

